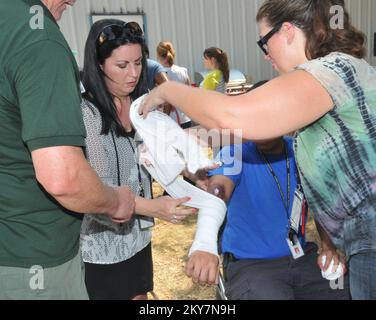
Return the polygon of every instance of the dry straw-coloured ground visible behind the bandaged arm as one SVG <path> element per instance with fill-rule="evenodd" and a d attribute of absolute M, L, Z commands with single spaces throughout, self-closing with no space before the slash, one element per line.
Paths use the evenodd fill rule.
<path fill-rule="evenodd" d="M 163 190 L 153 184 L 154 195 Z M 214 300 L 215 287 L 192 283 L 184 274 L 187 254 L 194 238 L 196 217 L 190 217 L 181 225 L 156 221 L 153 231 L 154 292 L 150 299 L 160 300 Z M 307 240 L 317 242 L 312 220 L 307 226 Z"/>

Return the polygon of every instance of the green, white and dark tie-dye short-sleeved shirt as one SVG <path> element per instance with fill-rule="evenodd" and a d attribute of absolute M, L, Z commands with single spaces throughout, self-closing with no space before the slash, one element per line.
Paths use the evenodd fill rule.
<path fill-rule="evenodd" d="M 337 52 L 298 69 L 320 81 L 334 101 L 295 141 L 310 209 L 348 256 L 376 250 L 376 71 Z"/>

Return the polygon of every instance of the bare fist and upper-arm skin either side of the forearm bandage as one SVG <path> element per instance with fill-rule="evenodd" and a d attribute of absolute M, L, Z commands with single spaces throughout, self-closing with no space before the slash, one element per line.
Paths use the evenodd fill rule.
<path fill-rule="evenodd" d="M 234 183 L 226 176 L 216 175 L 209 178 L 208 192 L 226 203 L 234 191 Z M 189 257 L 185 273 L 194 283 L 218 284 L 219 259 L 208 252 L 195 251 Z"/>

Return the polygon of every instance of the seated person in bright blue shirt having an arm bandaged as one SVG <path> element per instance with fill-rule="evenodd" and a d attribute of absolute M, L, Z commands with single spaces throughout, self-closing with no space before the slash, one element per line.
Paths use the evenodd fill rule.
<path fill-rule="evenodd" d="M 343 258 L 320 225 L 317 225 L 320 255 L 316 244 L 305 241 L 306 216 L 301 217 L 296 235 L 301 248 L 299 245 L 289 248 L 289 221 L 299 185 L 292 138 L 227 146 L 218 160 L 223 165 L 210 171 L 209 178 L 199 181 L 199 185 L 228 205 L 220 241 L 227 297 L 230 300 L 349 299 L 347 276 L 335 285 L 321 274 L 332 259 L 337 266 Z M 304 256 L 294 257 L 300 249 Z M 325 264 L 323 256 L 327 257 Z M 195 263 L 187 263 L 187 275 L 194 282 L 215 283 L 213 276 L 217 276 L 219 268 L 216 258 L 196 253 L 196 257 L 190 257 Z"/>

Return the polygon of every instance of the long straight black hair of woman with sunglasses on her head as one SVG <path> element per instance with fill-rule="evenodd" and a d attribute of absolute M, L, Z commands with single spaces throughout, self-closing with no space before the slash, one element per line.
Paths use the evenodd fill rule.
<path fill-rule="evenodd" d="M 105 19 L 97 21 L 90 29 L 85 45 L 85 60 L 82 72 L 82 83 L 86 92 L 83 97 L 92 102 L 99 110 L 102 117 L 101 134 L 109 134 L 113 130 L 117 136 L 126 136 L 127 132 L 118 117 L 113 97 L 108 91 L 101 65 L 108 59 L 112 51 L 126 44 L 139 44 L 142 50 L 142 73 L 135 90 L 130 94 L 135 100 L 147 92 L 147 62 L 145 55 L 145 41 L 133 25 L 124 28 L 120 38 L 105 41 L 98 45 L 98 39 L 103 30 L 108 26 L 124 26 L 124 21 Z"/>

